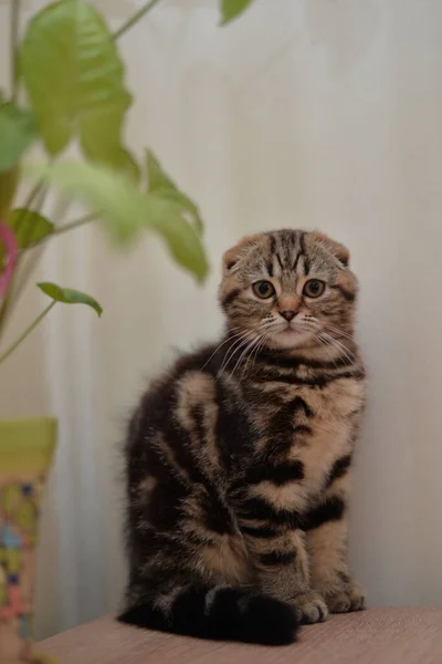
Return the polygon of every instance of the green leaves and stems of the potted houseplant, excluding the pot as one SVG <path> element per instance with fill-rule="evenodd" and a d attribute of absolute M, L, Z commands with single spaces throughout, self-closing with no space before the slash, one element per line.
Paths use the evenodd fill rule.
<path fill-rule="evenodd" d="M 199 282 L 208 274 L 198 206 L 180 190 L 151 151 L 146 151 L 145 163 L 138 164 L 124 142 L 127 112 L 134 100 L 126 87 L 117 40 L 160 1 L 146 2 L 112 33 L 90 2 L 57 0 L 28 21 L 21 43 L 20 3 L 9 2 L 11 91 L 9 98 L 0 91 L 0 224 L 13 230 L 20 255 L 0 300 L 0 334 L 21 290 L 14 288 L 14 282 L 17 273 L 19 278 L 22 273 L 22 255 L 35 251 L 52 236 L 95 219 L 117 245 L 135 242 L 146 231 L 155 232 L 175 262 Z M 251 3 L 220 0 L 222 24 Z M 64 154 L 72 144 L 80 147 L 82 159 L 66 162 Z M 23 157 L 34 145 L 46 153 L 46 163 L 21 168 Z M 22 173 L 36 178 L 23 203 L 15 200 Z M 46 219 L 41 208 L 52 185 L 82 200 L 91 214 L 64 226 Z M 0 276 L 7 261 L 8 252 L 0 245 Z M 99 304 L 84 293 L 56 284 L 39 286 L 56 302 L 81 302 L 102 312 Z M 0 362 L 7 356 L 8 351 L 0 353 Z"/>

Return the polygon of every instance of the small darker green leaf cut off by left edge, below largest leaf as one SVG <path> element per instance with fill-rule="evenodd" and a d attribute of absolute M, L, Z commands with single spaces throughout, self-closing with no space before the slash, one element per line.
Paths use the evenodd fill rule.
<path fill-rule="evenodd" d="M 13 102 L 0 106 L 0 173 L 9 170 L 38 135 L 35 118 Z"/>

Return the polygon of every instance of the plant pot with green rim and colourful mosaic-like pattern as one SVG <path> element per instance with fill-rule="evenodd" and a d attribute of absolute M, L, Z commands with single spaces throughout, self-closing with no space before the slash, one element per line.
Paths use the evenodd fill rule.
<path fill-rule="evenodd" d="M 54 419 L 0 421 L 1 664 L 40 661 L 32 655 L 35 548 L 55 442 Z"/>

